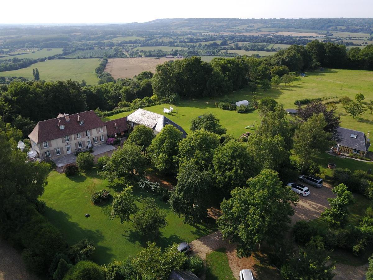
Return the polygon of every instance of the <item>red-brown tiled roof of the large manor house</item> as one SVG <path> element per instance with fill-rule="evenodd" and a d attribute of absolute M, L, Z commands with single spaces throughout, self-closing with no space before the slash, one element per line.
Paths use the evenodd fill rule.
<path fill-rule="evenodd" d="M 54 119 L 38 122 L 28 137 L 38 144 L 106 125 L 94 111 L 69 115 L 70 121 L 66 121 L 65 116 L 60 115 Z M 84 124 L 79 125 L 78 120 L 83 120 Z M 65 125 L 65 129 L 60 130 L 60 125 Z"/>

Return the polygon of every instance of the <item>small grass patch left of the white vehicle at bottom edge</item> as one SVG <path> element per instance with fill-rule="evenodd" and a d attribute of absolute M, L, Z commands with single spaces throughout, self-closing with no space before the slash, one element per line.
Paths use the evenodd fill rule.
<path fill-rule="evenodd" d="M 209 280 L 234 280 L 233 273 L 228 263 L 225 248 L 206 255 L 206 279 Z"/>

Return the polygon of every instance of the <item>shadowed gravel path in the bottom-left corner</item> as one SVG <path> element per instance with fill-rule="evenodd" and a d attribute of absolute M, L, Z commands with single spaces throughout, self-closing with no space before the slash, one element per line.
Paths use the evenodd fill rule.
<path fill-rule="evenodd" d="M 0 239 L 0 280 L 38 280 L 36 276 L 31 275 L 21 255 Z"/>

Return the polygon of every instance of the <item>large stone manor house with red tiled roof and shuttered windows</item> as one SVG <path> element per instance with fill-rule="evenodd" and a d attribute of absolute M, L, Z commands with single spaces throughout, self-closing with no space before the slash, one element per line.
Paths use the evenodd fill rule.
<path fill-rule="evenodd" d="M 94 113 L 86 111 L 73 115 L 59 114 L 57 118 L 40 121 L 28 136 L 31 150 L 42 159 L 54 159 L 104 144 L 106 123 Z"/>

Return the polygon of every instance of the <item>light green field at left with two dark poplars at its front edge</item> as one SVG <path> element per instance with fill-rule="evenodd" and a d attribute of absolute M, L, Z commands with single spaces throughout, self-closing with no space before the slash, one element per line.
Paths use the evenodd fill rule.
<path fill-rule="evenodd" d="M 34 63 L 26 68 L 0 72 L 0 77 L 25 77 L 33 79 L 32 69 L 38 68 L 40 80 L 85 80 L 87 84 L 97 84 L 98 77 L 94 69 L 100 63 L 99 59 L 53 59 Z"/>

